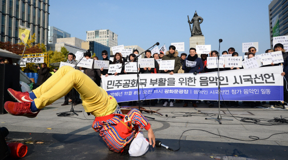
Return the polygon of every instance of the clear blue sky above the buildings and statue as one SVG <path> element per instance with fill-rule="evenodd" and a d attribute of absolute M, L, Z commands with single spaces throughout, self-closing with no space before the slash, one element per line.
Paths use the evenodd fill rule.
<path fill-rule="evenodd" d="M 271 0 L 50 0 L 49 25 L 82 40 L 86 32 L 109 29 L 118 45 L 144 50 L 185 42 L 189 53 L 190 20 L 195 10 L 204 21 L 205 44 L 220 53 L 230 47 L 242 53 L 242 43 L 259 42 L 259 53 L 270 48 L 268 5 Z M 258 54 L 259 54 L 258 53 Z"/>

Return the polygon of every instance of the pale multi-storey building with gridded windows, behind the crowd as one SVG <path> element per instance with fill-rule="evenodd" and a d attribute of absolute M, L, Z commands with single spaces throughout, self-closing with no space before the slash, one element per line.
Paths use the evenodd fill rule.
<path fill-rule="evenodd" d="M 118 46 L 118 35 L 109 29 L 86 31 L 86 41 L 95 41 L 107 47 Z"/>

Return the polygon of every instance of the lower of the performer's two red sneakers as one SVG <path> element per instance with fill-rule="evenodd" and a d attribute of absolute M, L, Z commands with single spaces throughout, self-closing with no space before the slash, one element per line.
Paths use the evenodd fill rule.
<path fill-rule="evenodd" d="M 11 115 L 23 115 L 29 118 L 34 118 L 37 116 L 40 110 L 33 113 L 30 107 L 31 102 L 16 103 L 7 101 L 4 104 L 5 110 Z"/>

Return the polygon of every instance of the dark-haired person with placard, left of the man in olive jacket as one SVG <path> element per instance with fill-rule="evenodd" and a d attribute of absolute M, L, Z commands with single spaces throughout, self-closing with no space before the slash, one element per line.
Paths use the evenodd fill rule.
<path fill-rule="evenodd" d="M 145 51 L 145 57 L 144 58 L 151 58 L 151 51 L 150 50 L 146 50 Z M 157 73 L 159 71 L 159 64 L 158 62 L 154 59 L 154 68 L 150 68 L 150 67 L 144 67 L 144 68 L 140 68 L 140 72 L 141 73 Z M 143 103 L 143 106 L 148 106 L 149 103 L 151 104 L 151 106 L 155 106 L 155 100 L 151 99 L 151 100 L 146 100 Z"/>

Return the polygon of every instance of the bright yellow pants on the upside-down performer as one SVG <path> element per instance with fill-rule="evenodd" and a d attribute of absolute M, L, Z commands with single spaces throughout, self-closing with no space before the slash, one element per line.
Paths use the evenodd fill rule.
<path fill-rule="evenodd" d="M 34 99 L 36 107 L 41 109 L 52 104 L 68 94 L 73 87 L 79 92 L 86 112 L 94 116 L 104 116 L 115 111 L 116 100 L 86 74 L 71 66 L 61 67 L 46 82 L 33 90 L 37 97 Z"/>

